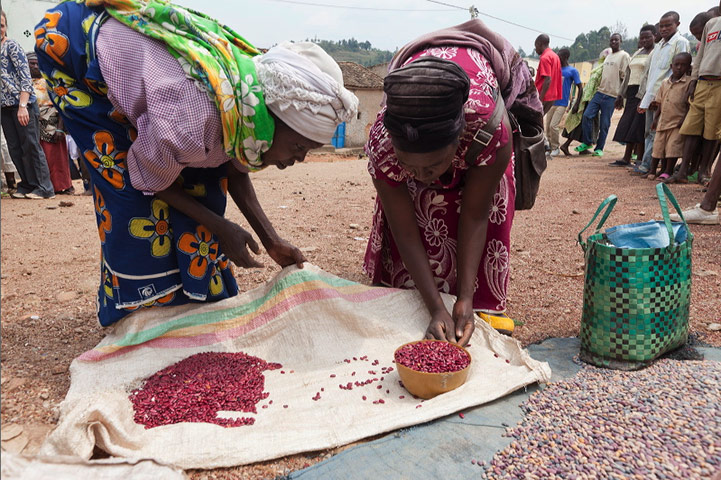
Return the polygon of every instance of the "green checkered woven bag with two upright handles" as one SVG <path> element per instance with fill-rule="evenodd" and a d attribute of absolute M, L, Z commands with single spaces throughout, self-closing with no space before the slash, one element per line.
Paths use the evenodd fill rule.
<path fill-rule="evenodd" d="M 686 343 L 691 299 L 691 247 L 681 209 L 665 184 L 656 188 L 668 246 L 618 248 L 600 229 L 616 204 L 611 195 L 578 234 L 585 253 L 581 360 L 606 368 L 637 370 Z M 677 243 L 666 197 L 681 215 L 685 241 Z M 606 211 L 595 233 L 583 232 Z"/>

